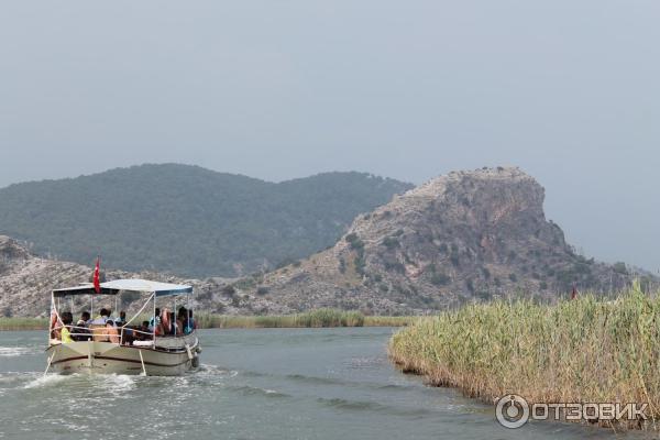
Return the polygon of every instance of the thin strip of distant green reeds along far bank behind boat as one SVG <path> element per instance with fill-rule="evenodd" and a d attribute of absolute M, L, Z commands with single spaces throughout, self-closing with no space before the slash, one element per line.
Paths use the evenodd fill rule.
<path fill-rule="evenodd" d="M 364 316 L 358 311 L 318 309 L 297 315 L 199 315 L 200 329 L 274 329 L 322 327 L 405 327 L 418 317 Z M 136 320 L 138 321 L 138 320 Z M 46 318 L 0 318 L 0 331 L 47 330 Z"/>

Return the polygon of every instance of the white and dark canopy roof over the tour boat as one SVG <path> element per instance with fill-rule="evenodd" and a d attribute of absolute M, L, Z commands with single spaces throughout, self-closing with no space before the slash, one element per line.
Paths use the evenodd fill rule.
<path fill-rule="evenodd" d="M 139 292 L 144 294 L 155 294 L 156 296 L 186 295 L 193 293 L 193 286 L 185 284 L 169 284 L 151 282 L 147 279 L 114 279 L 112 282 L 101 283 L 101 292 L 98 295 L 117 295 L 121 290 Z M 67 295 L 97 295 L 91 283 L 86 283 L 76 287 L 65 287 L 53 290 L 56 297 Z"/>

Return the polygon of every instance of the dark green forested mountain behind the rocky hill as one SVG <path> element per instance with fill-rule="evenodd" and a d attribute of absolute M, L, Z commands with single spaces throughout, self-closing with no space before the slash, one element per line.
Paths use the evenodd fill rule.
<path fill-rule="evenodd" d="M 125 271 L 237 276 L 336 242 L 413 186 L 362 173 L 279 184 L 198 166 L 117 168 L 0 189 L 0 233 L 42 255 Z"/>

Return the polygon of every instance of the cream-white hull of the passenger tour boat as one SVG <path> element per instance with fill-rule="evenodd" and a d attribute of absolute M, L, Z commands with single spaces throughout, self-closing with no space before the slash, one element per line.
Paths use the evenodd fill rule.
<path fill-rule="evenodd" d="M 196 337 L 157 340 L 154 346 L 81 341 L 51 345 L 48 371 L 59 374 L 142 374 L 176 376 L 199 365 Z"/>

